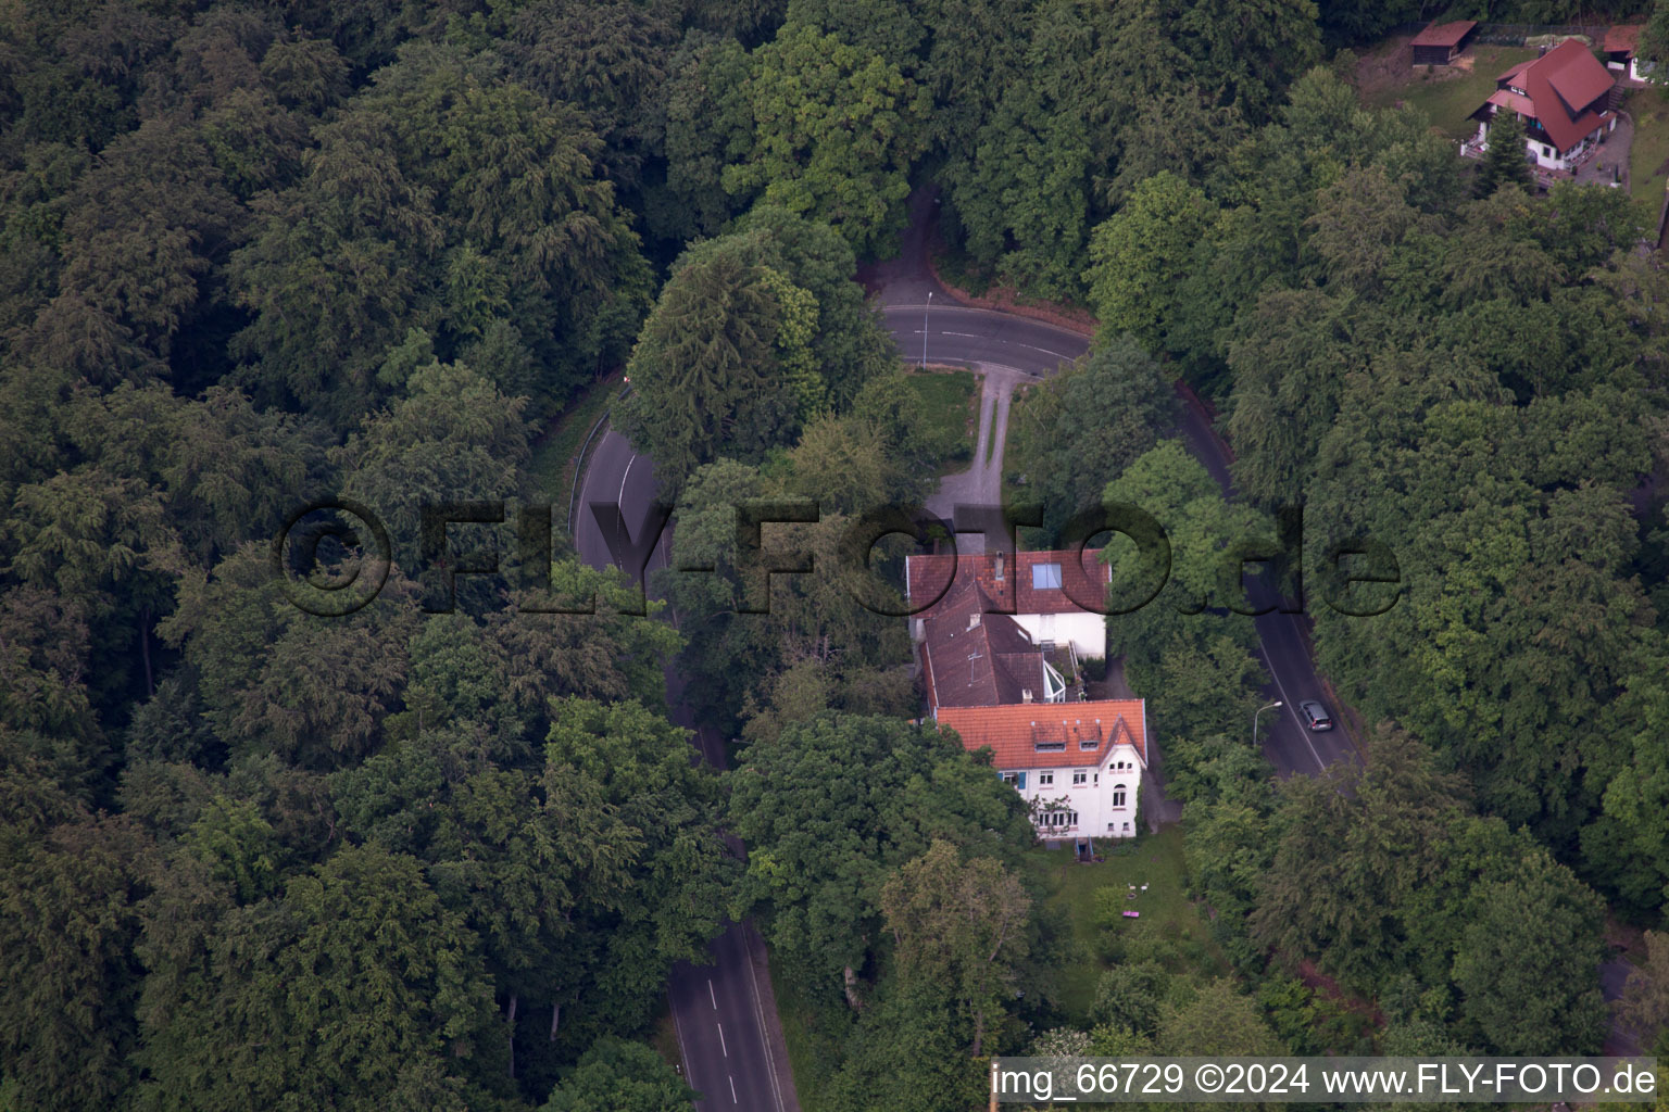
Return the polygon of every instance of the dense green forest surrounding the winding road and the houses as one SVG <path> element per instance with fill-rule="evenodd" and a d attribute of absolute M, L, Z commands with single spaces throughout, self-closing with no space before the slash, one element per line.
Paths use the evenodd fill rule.
<path fill-rule="evenodd" d="M 726 915 L 816 1017 L 816 1112 L 965 1112 L 1028 1047 L 1597 1050 L 1607 917 L 1659 927 L 1669 885 L 1669 272 L 1621 190 L 1537 195 L 1360 105 L 1350 48 L 1432 15 L 5 5 L 0 1109 L 669 1112 L 666 975 Z M 1040 540 L 1097 498 L 1178 522 L 1170 594 L 1110 639 L 1222 964 L 1108 934 L 1088 1015 L 1025 809 L 910 722 L 873 584 L 744 612 L 739 498 L 821 500 L 773 543 L 834 567 L 956 448 L 855 282 L 925 183 L 948 265 L 1100 320 L 1016 403 Z M 559 535 L 599 614 L 514 575 L 431 614 L 421 507 L 566 498 L 539 437 L 619 368 L 674 567 L 719 574 L 636 617 Z M 1233 502 L 1170 438 L 1177 378 Z M 394 538 L 340 619 L 270 562 L 325 497 Z M 1365 767 L 1277 784 L 1250 620 L 1175 602 L 1212 589 L 1190 553 L 1300 503 L 1404 589 L 1315 612 Z M 668 660 L 734 772 L 691 764 Z"/>

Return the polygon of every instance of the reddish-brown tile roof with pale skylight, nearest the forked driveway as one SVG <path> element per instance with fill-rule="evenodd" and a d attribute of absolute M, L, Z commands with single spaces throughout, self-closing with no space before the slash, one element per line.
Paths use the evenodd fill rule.
<path fill-rule="evenodd" d="M 996 612 L 1006 614 L 1078 614 L 1100 612 L 1112 584 L 1112 569 L 1102 564 L 1100 548 L 1083 548 L 1082 562 L 1073 552 L 1016 552 L 1013 560 L 1001 560 L 1003 579 L 996 579 L 1001 553 L 978 552 L 970 555 L 913 555 L 905 565 L 906 590 L 911 605 L 938 599 L 915 617 L 930 619 L 950 602 L 945 590 L 955 575 L 956 582 L 976 580 Z M 1060 565 L 1060 587 L 1033 587 L 1033 569 Z M 1090 604 L 1090 605 L 1080 605 Z"/>

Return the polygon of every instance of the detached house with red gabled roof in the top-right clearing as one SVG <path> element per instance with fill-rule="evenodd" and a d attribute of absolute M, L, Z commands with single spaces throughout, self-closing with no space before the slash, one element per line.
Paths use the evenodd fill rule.
<path fill-rule="evenodd" d="M 1500 112 L 1517 112 L 1535 165 L 1571 170 L 1617 127 L 1612 85 L 1616 78 L 1587 45 L 1566 38 L 1495 78 L 1495 92 L 1472 113 L 1477 140 L 1489 137 L 1489 125 Z"/>

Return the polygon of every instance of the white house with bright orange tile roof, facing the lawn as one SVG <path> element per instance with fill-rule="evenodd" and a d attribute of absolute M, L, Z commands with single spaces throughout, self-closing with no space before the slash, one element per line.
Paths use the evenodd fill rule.
<path fill-rule="evenodd" d="M 940 707 L 938 724 L 991 764 L 1031 809 L 1043 839 L 1137 834 L 1147 769 L 1147 704 L 1103 699 L 1060 705 Z"/>

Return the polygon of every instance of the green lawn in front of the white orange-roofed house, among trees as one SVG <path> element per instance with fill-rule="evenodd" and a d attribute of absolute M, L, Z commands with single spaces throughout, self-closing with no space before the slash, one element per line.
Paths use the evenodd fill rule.
<path fill-rule="evenodd" d="M 1088 1022 L 1095 985 L 1112 967 L 1107 955 L 1137 935 L 1168 940 L 1178 962 L 1193 972 L 1228 972 L 1205 920 L 1182 889 L 1182 827 L 1167 827 L 1135 844 L 1097 840 L 1095 845 L 1107 859 L 1097 865 L 1077 864 L 1070 849 L 1038 849 L 1026 859 L 1046 894 L 1043 914 L 1070 929 L 1056 989 L 1073 1022 Z M 1125 910 L 1140 912 L 1140 919 L 1123 919 Z M 1108 934 L 1115 937 L 1103 937 Z"/>

